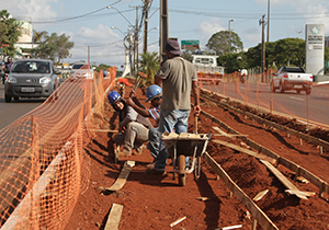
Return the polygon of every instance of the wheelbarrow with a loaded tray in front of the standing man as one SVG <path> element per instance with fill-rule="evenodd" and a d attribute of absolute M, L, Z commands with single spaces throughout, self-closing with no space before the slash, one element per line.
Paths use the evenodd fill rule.
<path fill-rule="evenodd" d="M 180 135 L 164 133 L 161 139 L 164 142 L 167 153 L 172 158 L 173 180 L 178 174 L 179 185 L 186 184 L 186 174 L 194 171 L 194 179 L 200 177 L 201 156 L 205 152 L 212 134 L 188 134 Z M 186 157 L 189 163 L 186 164 Z"/>

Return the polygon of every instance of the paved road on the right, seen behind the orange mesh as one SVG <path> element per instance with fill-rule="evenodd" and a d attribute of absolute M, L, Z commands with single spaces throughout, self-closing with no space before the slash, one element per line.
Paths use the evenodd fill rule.
<path fill-rule="evenodd" d="M 249 103 L 271 108 L 271 93 L 268 84 L 249 83 L 236 84 L 234 82 L 219 85 L 205 85 L 206 89 L 236 97 Z M 258 93 L 257 93 L 258 92 Z M 329 125 L 329 87 L 314 87 L 309 96 L 302 92 L 286 91 L 272 94 L 273 111 L 290 114 L 304 119 Z"/>

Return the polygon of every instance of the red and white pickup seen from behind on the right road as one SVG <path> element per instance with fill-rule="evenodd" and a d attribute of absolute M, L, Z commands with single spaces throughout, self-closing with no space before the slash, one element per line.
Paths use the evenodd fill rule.
<path fill-rule="evenodd" d="M 297 93 L 305 91 L 307 95 L 310 94 L 313 82 L 313 74 L 306 73 L 302 67 L 282 67 L 273 74 L 271 82 L 271 92 L 276 89 L 281 93 L 287 90 L 296 90 Z"/>

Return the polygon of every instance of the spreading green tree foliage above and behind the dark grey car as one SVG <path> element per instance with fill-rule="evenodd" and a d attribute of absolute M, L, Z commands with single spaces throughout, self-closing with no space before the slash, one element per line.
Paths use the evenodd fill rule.
<path fill-rule="evenodd" d="M 70 57 L 69 49 L 75 45 L 73 42 L 69 42 L 70 36 L 57 33 L 48 32 L 35 32 L 33 34 L 33 42 L 38 43 L 38 45 L 32 49 L 23 49 L 26 53 L 31 53 L 34 58 L 52 59 L 55 64 L 61 62 L 63 59 Z"/>

